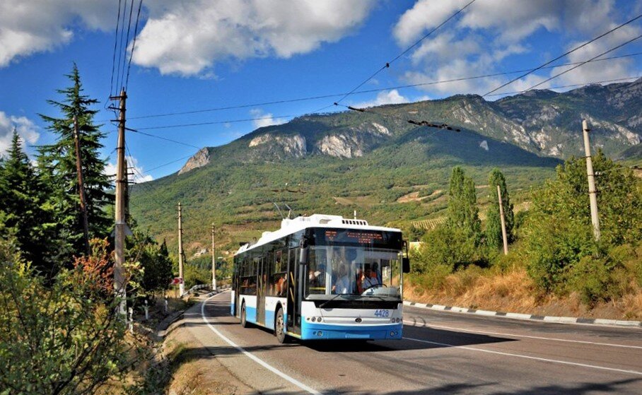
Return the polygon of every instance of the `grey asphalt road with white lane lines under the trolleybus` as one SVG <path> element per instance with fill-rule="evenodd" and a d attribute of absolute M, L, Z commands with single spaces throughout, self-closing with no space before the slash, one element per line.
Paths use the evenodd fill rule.
<path fill-rule="evenodd" d="M 281 345 L 243 329 L 229 293 L 187 329 L 260 394 L 642 394 L 642 331 L 404 307 L 404 340 Z"/>

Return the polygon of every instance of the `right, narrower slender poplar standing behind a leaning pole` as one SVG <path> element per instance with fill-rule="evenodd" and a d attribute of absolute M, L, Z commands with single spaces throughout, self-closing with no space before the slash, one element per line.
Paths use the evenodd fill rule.
<path fill-rule="evenodd" d="M 499 197 L 497 196 L 497 186 L 501 190 L 501 201 L 504 211 L 504 220 L 506 221 L 506 238 L 508 242 L 513 242 L 513 226 L 515 225 L 515 216 L 513 214 L 513 204 L 510 203 L 508 188 L 506 187 L 506 178 L 499 169 L 493 169 L 488 177 L 488 184 L 491 194 L 491 202 L 486 218 L 486 243 L 489 247 L 499 248 L 503 245 L 501 235 L 501 218 L 499 216 Z"/>

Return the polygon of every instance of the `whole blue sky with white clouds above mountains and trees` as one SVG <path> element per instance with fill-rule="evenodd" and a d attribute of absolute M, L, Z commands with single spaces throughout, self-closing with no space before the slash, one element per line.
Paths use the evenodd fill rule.
<path fill-rule="evenodd" d="M 258 126 L 286 122 L 291 119 L 288 116 L 332 105 L 340 96 L 170 117 L 136 117 L 347 92 L 468 2 L 144 1 L 127 87 L 128 126 L 189 146 L 130 132 L 127 146 L 137 171 L 144 179 L 163 177 L 180 169 L 185 157 L 197 151 L 192 146 L 227 143 Z M 519 74 L 416 88 L 390 87 L 531 69 L 637 16 L 642 13 L 641 3 L 474 1 L 360 88 L 379 92 L 351 95 L 342 103 L 367 106 L 486 93 Z M 135 19 L 138 0 L 134 5 Z M 74 61 L 85 93 L 101 102 L 96 119 L 112 119 L 113 114 L 103 107 L 111 88 L 117 8 L 115 0 L 1 2 L 0 152 L 6 150 L 14 126 L 29 145 L 52 141 L 37 114 L 57 115 L 47 100 L 60 98 L 56 90 L 69 84 L 64 74 Z M 642 18 L 555 65 L 590 59 L 641 34 Z M 129 48 L 131 45 L 129 40 Z M 637 52 L 642 52 L 642 39 L 606 56 Z M 560 71 L 564 67 L 537 71 L 500 92 L 525 90 Z M 634 78 L 641 71 L 642 56 L 592 62 L 540 88 Z M 339 109 L 329 107 L 326 111 L 335 110 Z M 262 119 L 227 122 L 252 118 Z M 220 123 L 143 129 L 202 122 Z M 103 130 L 108 134 L 103 155 L 115 163 L 115 126 L 105 122 Z M 28 151 L 34 152 L 33 148 Z"/>

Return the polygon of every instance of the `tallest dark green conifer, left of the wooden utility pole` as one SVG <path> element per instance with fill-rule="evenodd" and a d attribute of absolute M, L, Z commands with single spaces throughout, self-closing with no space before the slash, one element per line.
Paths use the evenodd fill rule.
<path fill-rule="evenodd" d="M 58 90 L 64 96 L 62 101 L 49 100 L 57 107 L 62 117 L 40 115 L 49 124 L 47 129 L 57 136 L 52 145 L 42 146 L 38 166 L 47 188 L 47 208 L 54 214 L 57 223 L 53 241 L 56 251 L 54 261 L 70 261 L 70 257 L 83 251 L 83 225 L 78 197 L 78 176 L 74 146 L 74 117 L 78 118 L 78 129 L 82 156 L 82 171 L 86 194 L 90 237 L 106 237 L 109 234 L 110 218 L 105 207 L 112 204 L 109 193 L 110 182 L 105 175 L 105 160 L 100 158 L 100 140 L 105 136 L 94 124 L 96 110 L 91 110 L 98 100 L 83 95 L 81 78 L 74 64 L 67 75 L 71 86 Z"/>

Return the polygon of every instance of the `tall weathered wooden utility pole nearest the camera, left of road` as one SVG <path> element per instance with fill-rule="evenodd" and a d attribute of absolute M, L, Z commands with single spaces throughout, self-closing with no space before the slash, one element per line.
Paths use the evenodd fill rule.
<path fill-rule="evenodd" d="M 116 297 L 120 300 L 119 314 L 127 319 L 127 284 L 124 278 L 124 261 L 125 261 L 125 231 L 127 223 L 125 222 L 125 189 L 127 187 L 127 168 L 125 164 L 125 100 L 127 93 L 122 89 L 119 96 L 110 99 L 119 99 L 118 119 L 118 143 L 116 146 L 116 215 L 115 215 L 115 255 L 116 264 L 114 266 L 114 288 Z"/>

